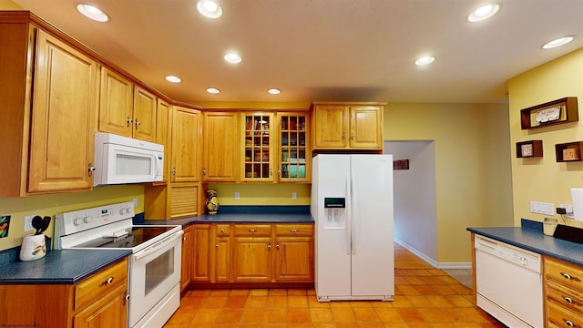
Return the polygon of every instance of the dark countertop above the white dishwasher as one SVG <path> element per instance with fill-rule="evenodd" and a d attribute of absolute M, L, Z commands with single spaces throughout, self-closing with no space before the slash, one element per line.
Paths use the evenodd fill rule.
<path fill-rule="evenodd" d="M 547 236 L 543 234 L 542 225 L 540 229 L 537 225 L 528 228 L 523 224 L 523 227 L 467 228 L 466 230 L 527 251 L 583 266 L 583 244 Z"/>

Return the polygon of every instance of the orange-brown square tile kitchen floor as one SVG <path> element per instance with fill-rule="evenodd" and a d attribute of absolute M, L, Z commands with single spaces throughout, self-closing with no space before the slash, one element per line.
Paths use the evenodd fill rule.
<path fill-rule="evenodd" d="M 167 328 L 505 327 L 471 290 L 395 244 L 394 302 L 318 302 L 312 289 L 191 290 Z"/>

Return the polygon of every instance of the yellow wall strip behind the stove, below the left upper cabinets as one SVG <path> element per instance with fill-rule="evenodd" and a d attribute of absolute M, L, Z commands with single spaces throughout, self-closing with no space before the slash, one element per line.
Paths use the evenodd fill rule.
<path fill-rule="evenodd" d="M 38 195 L 29 197 L 0 197 L 0 216 L 11 215 L 8 236 L 0 239 L 0 251 L 20 246 L 25 232 L 25 216 L 51 216 L 51 224 L 46 230 L 47 236 L 53 236 L 55 214 L 71 210 L 81 210 L 107 204 L 138 199 L 136 213 L 144 211 L 144 187 L 142 186 L 107 186 L 93 191 L 72 192 L 66 194 Z"/>

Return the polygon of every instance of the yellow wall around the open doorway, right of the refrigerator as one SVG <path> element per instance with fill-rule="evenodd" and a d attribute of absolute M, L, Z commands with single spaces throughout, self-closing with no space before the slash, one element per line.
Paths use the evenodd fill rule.
<path fill-rule="evenodd" d="M 435 140 L 434 260 L 440 263 L 471 261 L 465 228 L 512 225 L 507 115 L 506 105 L 391 103 L 385 108 L 385 140 Z"/>

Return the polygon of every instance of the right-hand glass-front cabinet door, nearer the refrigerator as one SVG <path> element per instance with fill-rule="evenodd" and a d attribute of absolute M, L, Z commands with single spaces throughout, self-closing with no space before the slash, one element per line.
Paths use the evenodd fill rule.
<path fill-rule="evenodd" d="M 310 182 L 309 113 L 278 113 L 278 179 L 280 182 Z"/>

